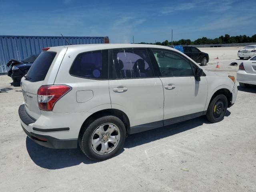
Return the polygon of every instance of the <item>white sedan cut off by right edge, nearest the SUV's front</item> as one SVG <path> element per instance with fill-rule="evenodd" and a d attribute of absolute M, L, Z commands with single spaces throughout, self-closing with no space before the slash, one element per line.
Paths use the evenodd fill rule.
<path fill-rule="evenodd" d="M 239 65 L 236 78 L 240 86 L 256 85 L 256 56 Z"/>

